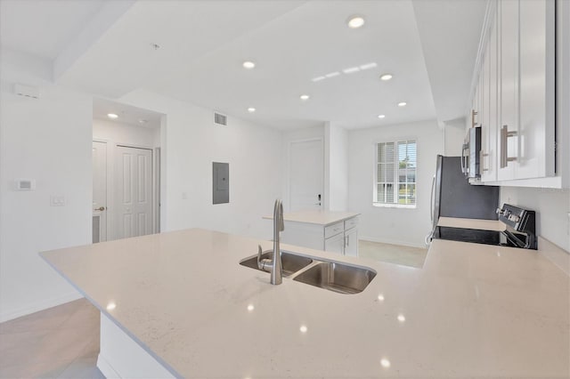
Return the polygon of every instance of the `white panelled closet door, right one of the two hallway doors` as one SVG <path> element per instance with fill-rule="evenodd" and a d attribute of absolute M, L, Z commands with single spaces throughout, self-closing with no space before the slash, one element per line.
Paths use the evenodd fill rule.
<path fill-rule="evenodd" d="M 152 150 L 117 146 L 117 238 L 152 233 Z"/>

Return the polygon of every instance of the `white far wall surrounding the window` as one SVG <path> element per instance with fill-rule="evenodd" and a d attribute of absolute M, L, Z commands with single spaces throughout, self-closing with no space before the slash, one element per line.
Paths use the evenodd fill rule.
<path fill-rule="evenodd" d="M 372 206 L 374 142 L 415 138 L 418 142 L 417 207 Z M 436 155 L 444 152 L 444 131 L 436 120 L 388 125 L 348 133 L 348 209 L 361 215 L 359 238 L 424 246 L 431 230 L 429 204 Z"/>

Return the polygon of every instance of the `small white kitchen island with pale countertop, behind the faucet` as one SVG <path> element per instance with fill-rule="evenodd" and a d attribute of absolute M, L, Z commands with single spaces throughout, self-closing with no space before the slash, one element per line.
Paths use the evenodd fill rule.
<path fill-rule="evenodd" d="M 358 215 L 354 212 L 307 210 L 283 214 L 281 240 L 341 255 L 358 256 Z M 273 216 L 265 216 L 273 220 Z"/>

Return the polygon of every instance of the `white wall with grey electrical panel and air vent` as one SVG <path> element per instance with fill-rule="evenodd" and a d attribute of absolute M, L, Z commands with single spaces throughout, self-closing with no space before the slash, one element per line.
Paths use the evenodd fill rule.
<path fill-rule="evenodd" d="M 210 109 L 146 91 L 120 101 L 166 115 L 162 230 L 199 227 L 271 238 L 271 222 L 262 216 L 281 197 L 280 131 L 231 116 L 227 126 L 215 125 Z M 229 204 L 212 205 L 212 162 L 230 164 Z"/>

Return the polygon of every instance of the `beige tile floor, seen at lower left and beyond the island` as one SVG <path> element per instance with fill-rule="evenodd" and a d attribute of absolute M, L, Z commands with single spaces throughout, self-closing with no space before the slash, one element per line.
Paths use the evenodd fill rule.
<path fill-rule="evenodd" d="M 359 241 L 361 257 L 422 267 L 428 249 Z M 85 299 L 0 324 L 0 378 L 103 378 L 99 310 Z"/>

